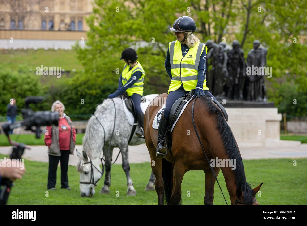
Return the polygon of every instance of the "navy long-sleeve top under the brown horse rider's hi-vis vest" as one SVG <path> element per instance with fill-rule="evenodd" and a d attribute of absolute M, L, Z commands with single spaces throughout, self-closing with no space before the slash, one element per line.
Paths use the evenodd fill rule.
<path fill-rule="evenodd" d="M 181 43 L 181 52 L 182 52 L 182 57 L 185 57 L 186 53 L 188 53 L 188 50 L 190 48 Z M 186 53 L 184 53 L 186 52 Z M 165 62 L 164 62 L 164 66 L 166 69 L 167 74 L 169 75 L 170 78 L 172 78 L 172 74 L 171 74 L 171 65 L 170 65 L 170 58 L 169 58 L 169 48 L 167 49 L 167 54 L 166 54 L 166 58 L 165 58 Z M 199 60 L 199 65 L 198 65 L 198 79 L 197 79 L 197 85 L 196 88 L 204 88 L 204 80 L 205 80 L 205 76 L 206 76 L 206 71 L 207 71 L 207 65 L 206 65 L 206 47 L 204 48 L 204 51 L 202 52 L 202 54 L 200 55 L 200 60 Z M 181 84 L 182 87 L 182 84 Z M 183 87 L 182 87 L 183 88 Z"/>

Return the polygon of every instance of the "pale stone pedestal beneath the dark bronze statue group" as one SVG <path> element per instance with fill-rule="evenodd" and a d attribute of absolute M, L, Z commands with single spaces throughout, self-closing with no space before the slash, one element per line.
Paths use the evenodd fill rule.
<path fill-rule="evenodd" d="M 227 106 L 227 105 L 226 105 Z M 282 114 L 271 107 L 225 107 L 239 147 L 297 147 L 300 141 L 280 140 Z"/>

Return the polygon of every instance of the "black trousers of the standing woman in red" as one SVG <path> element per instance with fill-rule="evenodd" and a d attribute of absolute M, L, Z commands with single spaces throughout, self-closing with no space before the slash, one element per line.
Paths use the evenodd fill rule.
<path fill-rule="evenodd" d="M 61 161 L 61 188 L 68 187 L 68 160 L 69 150 L 60 150 L 61 156 L 49 155 L 49 169 L 48 169 L 48 185 L 47 188 L 56 186 L 56 170 L 59 161 Z"/>

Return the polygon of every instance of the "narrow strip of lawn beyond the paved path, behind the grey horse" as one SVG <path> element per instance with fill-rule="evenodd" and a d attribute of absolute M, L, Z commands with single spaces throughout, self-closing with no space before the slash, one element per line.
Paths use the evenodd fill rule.
<path fill-rule="evenodd" d="M 84 133 L 77 133 L 76 136 L 76 144 L 82 145 L 82 138 Z M 40 139 L 36 139 L 34 134 L 21 134 L 19 137 L 16 134 L 10 136 L 11 140 L 17 141 L 20 143 L 25 143 L 27 145 L 45 145 L 44 136 L 42 135 Z M 290 140 L 290 141 L 301 141 L 302 144 L 307 143 L 307 136 L 299 136 L 299 135 L 281 135 L 281 140 Z M 10 145 L 7 141 L 5 135 L 0 134 L 0 146 L 8 146 Z"/>

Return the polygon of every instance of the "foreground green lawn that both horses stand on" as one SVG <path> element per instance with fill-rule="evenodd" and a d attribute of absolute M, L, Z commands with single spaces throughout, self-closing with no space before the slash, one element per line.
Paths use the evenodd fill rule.
<path fill-rule="evenodd" d="M 3 158 L 4 155 L 0 155 Z M 296 159 L 297 166 L 293 166 L 292 159 L 244 160 L 247 181 L 258 186 L 261 197 L 257 196 L 259 204 L 306 204 L 307 203 L 307 158 Z M 155 191 L 144 191 L 148 183 L 151 168 L 150 163 L 130 164 L 130 174 L 134 182 L 137 196 L 126 196 L 126 176 L 121 165 L 113 165 L 111 170 L 110 194 L 99 194 L 103 186 L 104 176 L 98 182 L 96 194 L 92 197 L 80 197 L 79 172 L 75 166 L 69 166 L 68 179 L 72 190 L 60 189 L 60 168 L 57 172 L 56 191 L 47 190 L 48 163 L 25 160 L 26 172 L 22 180 L 17 180 L 12 188 L 8 204 L 157 204 Z M 204 204 L 204 172 L 189 171 L 182 182 L 183 204 Z M 230 203 L 222 172 L 218 176 L 219 182 Z M 252 186 L 254 188 L 254 186 Z M 119 191 L 119 197 L 116 192 Z M 190 192 L 190 197 L 187 196 Z M 224 205 L 225 201 L 216 183 L 214 204 Z"/>

